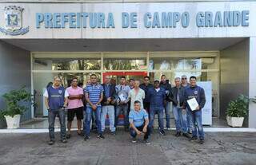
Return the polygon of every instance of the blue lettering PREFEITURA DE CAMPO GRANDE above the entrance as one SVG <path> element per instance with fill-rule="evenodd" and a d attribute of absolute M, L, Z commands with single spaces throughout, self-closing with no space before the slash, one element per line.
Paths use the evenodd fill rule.
<path fill-rule="evenodd" d="M 249 26 L 249 10 L 242 11 L 200 11 L 195 22 L 190 22 L 189 12 L 122 12 L 122 28 L 138 28 L 138 19 L 142 17 L 143 26 L 148 28 L 176 28 L 178 24 L 186 28 L 191 23 L 200 27 Z M 39 28 L 115 28 L 113 13 L 36 13 L 36 27 Z"/>

